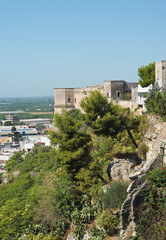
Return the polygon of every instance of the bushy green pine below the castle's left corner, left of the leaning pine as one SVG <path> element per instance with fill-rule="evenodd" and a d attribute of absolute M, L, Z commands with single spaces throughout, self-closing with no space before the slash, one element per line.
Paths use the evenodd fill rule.
<path fill-rule="evenodd" d="M 91 137 L 81 130 L 81 122 L 65 111 L 61 115 L 55 114 L 54 123 L 58 130 L 50 133 L 50 139 L 54 146 L 58 146 L 59 172 L 75 179 L 80 169 L 87 168 L 90 163 Z"/>

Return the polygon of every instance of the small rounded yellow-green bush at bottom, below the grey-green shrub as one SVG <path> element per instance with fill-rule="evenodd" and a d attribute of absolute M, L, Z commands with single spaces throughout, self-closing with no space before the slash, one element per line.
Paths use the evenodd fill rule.
<path fill-rule="evenodd" d="M 98 215 L 97 224 L 100 228 L 104 228 L 109 235 L 112 235 L 118 230 L 119 219 L 114 217 L 107 209 Z"/>

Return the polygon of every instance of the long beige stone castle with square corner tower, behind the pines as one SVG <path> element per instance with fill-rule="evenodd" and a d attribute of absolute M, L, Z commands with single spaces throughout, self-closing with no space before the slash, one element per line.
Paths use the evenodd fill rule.
<path fill-rule="evenodd" d="M 104 81 L 103 84 L 88 86 L 84 88 L 55 88 L 54 112 L 61 113 L 62 108 L 72 110 L 80 109 L 80 102 L 92 91 L 98 90 L 108 101 L 113 101 L 123 107 L 130 107 L 132 110 L 137 107 L 138 83 L 127 83 L 124 80 Z M 125 100 L 126 97 L 130 100 Z"/>

